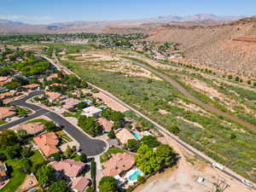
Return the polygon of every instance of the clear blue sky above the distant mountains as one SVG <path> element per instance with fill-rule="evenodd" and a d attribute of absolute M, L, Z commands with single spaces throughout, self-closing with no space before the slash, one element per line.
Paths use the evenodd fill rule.
<path fill-rule="evenodd" d="M 256 15 L 255 0 L 0 0 L 0 19 L 45 24 L 160 15 Z"/>

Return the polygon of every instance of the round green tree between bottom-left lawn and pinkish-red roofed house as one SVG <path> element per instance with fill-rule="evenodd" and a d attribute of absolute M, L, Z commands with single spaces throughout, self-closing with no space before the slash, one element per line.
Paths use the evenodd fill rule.
<path fill-rule="evenodd" d="M 43 186 L 55 181 L 55 170 L 52 166 L 41 166 L 36 173 L 38 183 Z"/>

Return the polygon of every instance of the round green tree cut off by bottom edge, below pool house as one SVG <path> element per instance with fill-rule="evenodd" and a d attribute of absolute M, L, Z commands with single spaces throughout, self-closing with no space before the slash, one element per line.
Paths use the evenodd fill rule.
<path fill-rule="evenodd" d="M 102 177 L 99 183 L 100 192 L 118 192 L 118 186 L 114 177 Z"/>

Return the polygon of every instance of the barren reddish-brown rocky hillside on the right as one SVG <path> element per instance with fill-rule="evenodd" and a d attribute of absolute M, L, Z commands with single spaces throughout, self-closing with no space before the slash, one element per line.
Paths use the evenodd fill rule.
<path fill-rule="evenodd" d="M 148 40 L 177 42 L 191 61 L 256 77 L 256 17 L 215 26 L 165 25 Z"/>

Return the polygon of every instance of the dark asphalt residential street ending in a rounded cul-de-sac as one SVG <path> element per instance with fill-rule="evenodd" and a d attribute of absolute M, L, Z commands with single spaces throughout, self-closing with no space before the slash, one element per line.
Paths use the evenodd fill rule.
<path fill-rule="evenodd" d="M 105 151 L 105 149 L 107 148 L 107 144 L 102 140 L 88 137 L 87 135 L 84 134 L 84 132 L 80 131 L 77 127 L 69 123 L 67 119 L 62 118 L 61 115 L 57 113 L 51 112 L 45 108 L 41 108 L 38 105 L 26 102 L 28 99 L 32 98 L 32 96 L 38 96 L 43 93 L 44 93 L 43 90 L 33 91 L 28 96 L 25 96 L 14 102 L 10 102 L 10 104 L 12 105 L 17 105 L 24 108 L 30 108 L 35 113 L 32 113 L 26 118 L 18 119 L 5 125 L 0 125 L 0 131 L 3 131 L 4 129 L 8 129 L 15 125 L 19 125 L 20 123 L 24 123 L 29 119 L 34 119 L 40 115 L 44 115 L 49 119 L 51 119 L 52 121 L 54 121 L 56 124 L 63 125 L 64 126 L 63 129 L 67 131 L 67 133 L 71 135 L 80 144 L 80 148 L 82 149 L 83 153 L 89 156 L 95 156 L 97 154 L 102 154 L 102 152 Z"/>

